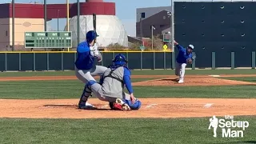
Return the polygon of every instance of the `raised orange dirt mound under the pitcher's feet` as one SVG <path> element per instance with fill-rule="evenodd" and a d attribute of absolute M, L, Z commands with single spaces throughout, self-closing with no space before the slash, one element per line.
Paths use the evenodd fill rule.
<path fill-rule="evenodd" d="M 256 85 L 254 82 L 241 82 L 212 77 L 186 77 L 184 83 L 178 83 L 178 78 L 161 78 L 144 82 L 134 82 L 134 86 L 228 86 Z"/>

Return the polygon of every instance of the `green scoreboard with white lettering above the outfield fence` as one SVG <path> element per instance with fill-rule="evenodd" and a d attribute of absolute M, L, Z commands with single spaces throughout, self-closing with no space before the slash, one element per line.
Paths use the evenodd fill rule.
<path fill-rule="evenodd" d="M 71 48 L 72 32 L 25 32 L 25 48 Z"/>

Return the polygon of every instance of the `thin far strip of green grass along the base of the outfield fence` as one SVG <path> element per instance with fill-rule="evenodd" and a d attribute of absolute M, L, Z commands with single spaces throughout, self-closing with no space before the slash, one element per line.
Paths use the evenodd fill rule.
<path fill-rule="evenodd" d="M 186 74 L 255 74 L 256 70 L 186 70 Z M 133 75 L 173 75 L 174 70 L 132 70 Z M 74 71 L 2 72 L 0 77 L 74 75 Z"/>

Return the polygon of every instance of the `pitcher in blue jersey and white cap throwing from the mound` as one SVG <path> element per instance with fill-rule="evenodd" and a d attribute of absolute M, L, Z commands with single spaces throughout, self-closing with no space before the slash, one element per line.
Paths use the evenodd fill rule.
<path fill-rule="evenodd" d="M 192 58 L 192 51 L 194 50 L 194 46 L 190 45 L 187 48 L 180 46 L 178 42 L 174 41 L 174 45 L 178 48 L 178 56 L 176 58 L 176 68 L 175 74 L 179 76 L 178 83 L 184 82 L 184 75 L 186 64 L 191 61 Z M 191 63 L 190 63 L 191 64 Z"/>

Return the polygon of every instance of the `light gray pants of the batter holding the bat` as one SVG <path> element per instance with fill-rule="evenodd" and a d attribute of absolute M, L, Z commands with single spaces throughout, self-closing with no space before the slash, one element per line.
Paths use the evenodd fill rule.
<path fill-rule="evenodd" d="M 91 80 L 96 81 L 94 76 L 102 76 L 106 69 L 107 68 L 105 66 L 94 66 L 90 70 L 78 70 L 78 68 L 75 66 L 75 75 L 80 81 L 86 84 L 86 82 Z"/>

